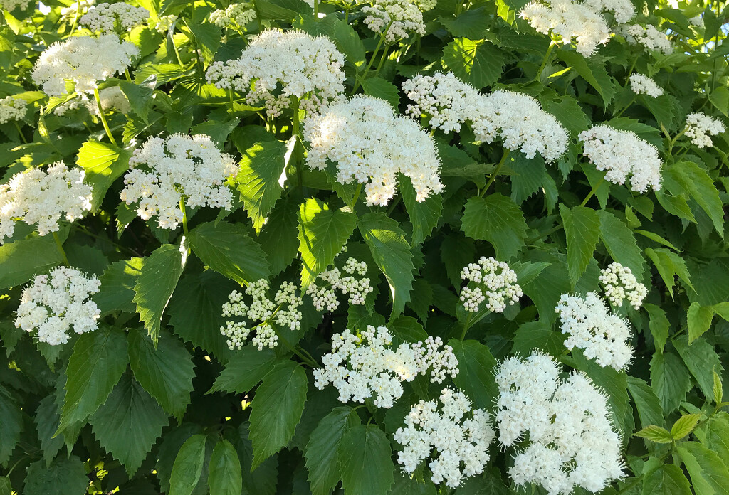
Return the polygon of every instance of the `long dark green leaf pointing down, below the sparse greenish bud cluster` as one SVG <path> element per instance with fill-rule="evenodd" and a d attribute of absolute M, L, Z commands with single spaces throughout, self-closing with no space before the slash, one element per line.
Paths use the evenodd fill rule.
<path fill-rule="evenodd" d="M 276 454 L 294 436 L 306 402 L 306 373 L 293 361 L 281 363 L 263 379 L 251 403 L 253 465 Z"/>

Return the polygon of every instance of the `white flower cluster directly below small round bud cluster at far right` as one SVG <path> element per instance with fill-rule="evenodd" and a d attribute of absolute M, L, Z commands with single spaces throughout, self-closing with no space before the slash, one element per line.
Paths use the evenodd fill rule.
<path fill-rule="evenodd" d="M 590 292 L 585 298 L 562 294 L 555 311 L 562 323 L 562 333 L 569 334 L 564 341 L 567 349 L 582 349 L 588 359 L 618 371 L 633 360 L 628 324 L 610 312 L 597 293 Z"/>

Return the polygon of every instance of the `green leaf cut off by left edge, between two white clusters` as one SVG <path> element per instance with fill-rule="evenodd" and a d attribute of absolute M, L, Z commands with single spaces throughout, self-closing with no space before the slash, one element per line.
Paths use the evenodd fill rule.
<path fill-rule="evenodd" d="M 63 258 L 50 234 L 8 242 L 0 246 L 0 289 L 22 285 L 61 263 Z"/>

